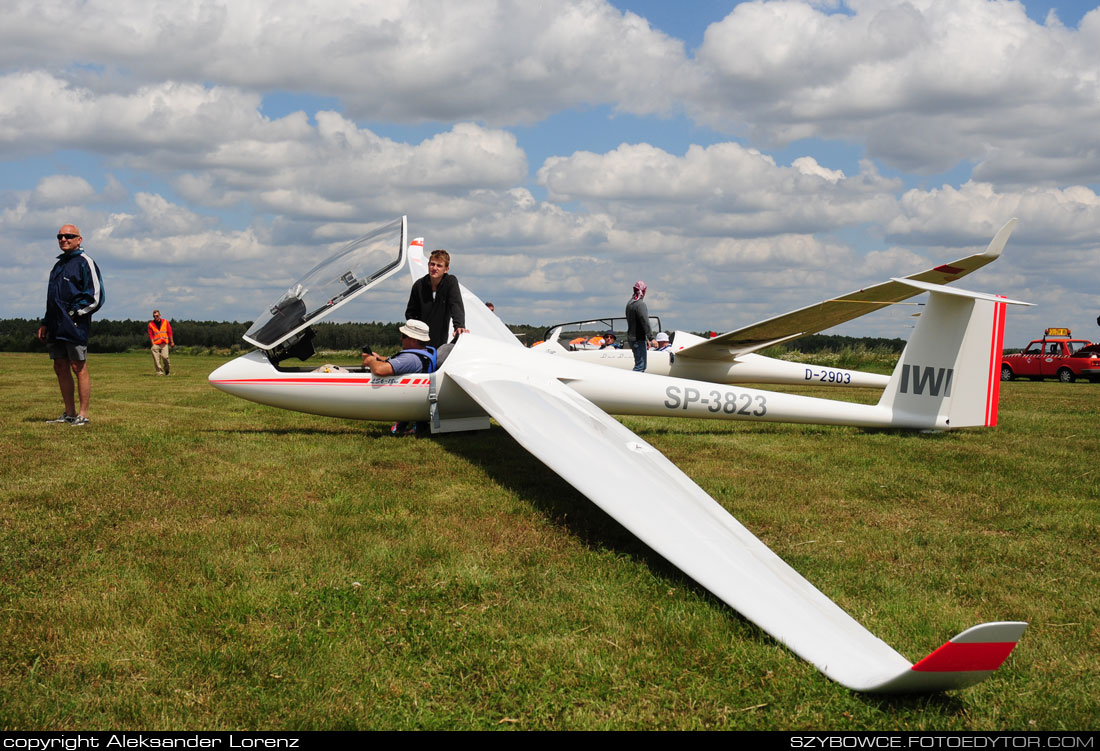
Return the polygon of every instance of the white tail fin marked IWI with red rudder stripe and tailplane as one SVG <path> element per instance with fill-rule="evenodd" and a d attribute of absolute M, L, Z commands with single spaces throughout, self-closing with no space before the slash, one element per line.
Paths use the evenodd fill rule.
<path fill-rule="evenodd" d="M 880 406 L 898 428 L 997 424 L 1007 305 L 1030 305 L 911 279 L 931 292 Z"/>

